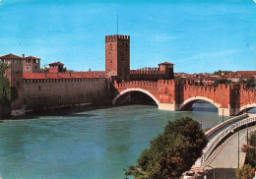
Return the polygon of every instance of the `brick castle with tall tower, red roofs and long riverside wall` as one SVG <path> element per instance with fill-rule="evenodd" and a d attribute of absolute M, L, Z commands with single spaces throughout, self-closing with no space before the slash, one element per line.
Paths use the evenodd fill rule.
<path fill-rule="evenodd" d="M 130 36 L 105 36 L 105 71 L 64 73 L 63 64 L 49 64 L 49 72 L 40 72 L 40 58 L 25 54 L 0 56 L 10 68 L 5 75 L 19 98 L 11 103 L 12 115 L 70 105 L 86 105 L 109 98 L 111 82 L 158 81 L 174 78 L 173 64 L 164 62 L 159 68 L 130 70 Z M 10 111 L 0 111 L 8 115 Z M 5 113 L 5 114 L 4 114 Z"/>

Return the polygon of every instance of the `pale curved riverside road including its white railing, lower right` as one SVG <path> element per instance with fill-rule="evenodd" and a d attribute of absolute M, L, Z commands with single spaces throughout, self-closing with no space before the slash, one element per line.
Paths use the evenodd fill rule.
<path fill-rule="evenodd" d="M 204 167 L 211 166 L 215 169 L 216 177 L 235 178 L 235 168 L 244 163 L 245 154 L 241 152 L 241 147 L 246 144 L 247 130 L 249 134 L 256 131 L 256 116 L 245 117 L 244 114 L 239 119 L 229 119 L 228 121 L 230 123 L 217 131 L 217 134 L 208 136 L 211 140 L 192 170 L 200 173 L 203 172 Z"/>

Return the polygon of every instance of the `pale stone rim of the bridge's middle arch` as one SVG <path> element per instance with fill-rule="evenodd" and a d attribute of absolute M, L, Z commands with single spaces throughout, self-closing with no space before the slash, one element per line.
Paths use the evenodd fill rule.
<path fill-rule="evenodd" d="M 186 110 L 186 109 L 190 109 L 192 107 L 192 105 L 199 101 L 199 100 L 205 100 L 207 102 L 210 102 L 212 104 L 214 104 L 218 109 L 221 108 L 221 104 L 216 103 L 213 99 L 205 97 L 205 96 L 193 96 L 193 97 L 189 97 L 186 100 L 184 100 L 181 104 L 180 104 L 180 110 Z"/>

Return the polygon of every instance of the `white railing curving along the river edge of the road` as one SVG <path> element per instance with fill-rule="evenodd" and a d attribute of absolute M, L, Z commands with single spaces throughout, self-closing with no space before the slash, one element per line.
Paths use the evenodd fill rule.
<path fill-rule="evenodd" d="M 256 117 L 248 117 L 246 119 L 243 119 L 239 122 L 236 122 L 234 124 L 232 124 L 231 126 L 229 126 L 228 128 L 226 128 L 220 136 L 218 136 L 218 138 L 212 143 L 212 145 L 209 147 L 209 149 L 207 149 L 205 151 L 205 153 L 203 154 L 203 156 L 201 157 L 201 165 L 204 164 L 204 162 L 208 159 L 208 157 L 210 156 L 210 154 L 213 152 L 213 150 L 219 145 L 219 143 L 230 133 L 233 133 L 234 130 L 238 129 L 241 126 L 251 124 L 253 122 L 256 122 Z"/>

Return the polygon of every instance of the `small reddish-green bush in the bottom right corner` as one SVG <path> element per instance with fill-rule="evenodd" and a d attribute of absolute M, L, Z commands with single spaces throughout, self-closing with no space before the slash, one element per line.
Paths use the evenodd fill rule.
<path fill-rule="evenodd" d="M 254 177 L 255 169 L 250 164 L 242 165 L 240 168 L 236 168 L 235 176 L 237 179 L 249 179 Z"/>

